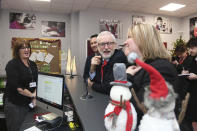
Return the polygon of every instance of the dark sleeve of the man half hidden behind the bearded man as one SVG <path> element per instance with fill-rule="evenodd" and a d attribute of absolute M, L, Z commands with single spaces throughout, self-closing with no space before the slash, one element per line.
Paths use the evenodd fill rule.
<path fill-rule="evenodd" d="M 94 57 L 95 55 L 91 55 L 91 56 L 88 56 L 86 58 L 86 63 L 85 63 L 85 67 L 84 67 L 84 73 L 83 73 L 83 79 L 84 79 L 84 82 L 87 81 L 87 79 L 89 78 L 89 72 L 90 72 L 90 67 L 91 67 L 91 59 L 92 57 Z"/>

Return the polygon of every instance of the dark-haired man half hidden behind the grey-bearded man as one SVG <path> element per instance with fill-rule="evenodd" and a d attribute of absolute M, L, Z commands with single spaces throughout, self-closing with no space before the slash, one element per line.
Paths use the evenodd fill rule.
<path fill-rule="evenodd" d="M 83 79 L 86 83 L 88 83 L 90 86 L 93 84 L 90 79 L 89 79 L 89 72 L 90 72 L 90 66 L 91 66 L 91 59 L 92 57 L 94 56 L 97 56 L 99 55 L 98 53 L 98 43 L 97 43 L 97 36 L 98 34 L 94 34 L 92 36 L 90 36 L 90 46 L 91 46 L 91 49 L 92 51 L 94 52 L 93 55 L 91 56 L 88 56 L 86 58 L 86 63 L 85 63 L 85 67 L 84 67 L 84 73 L 83 73 Z"/>

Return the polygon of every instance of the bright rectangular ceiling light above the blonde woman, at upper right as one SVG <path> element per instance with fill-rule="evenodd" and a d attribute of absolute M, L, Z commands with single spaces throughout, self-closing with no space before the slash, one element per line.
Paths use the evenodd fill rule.
<path fill-rule="evenodd" d="M 176 11 L 180 8 L 185 7 L 185 5 L 182 4 L 176 4 L 176 3 L 169 3 L 163 7 L 160 8 L 160 10 L 165 10 L 165 11 Z"/>

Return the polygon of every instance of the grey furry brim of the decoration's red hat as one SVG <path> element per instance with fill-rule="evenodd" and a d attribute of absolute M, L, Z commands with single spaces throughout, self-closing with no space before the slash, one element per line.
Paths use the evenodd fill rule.
<path fill-rule="evenodd" d="M 162 109 L 163 107 L 166 107 L 170 105 L 173 101 L 176 100 L 177 94 L 174 92 L 173 87 L 171 84 L 166 82 L 166 85 L 168 87 L 168 95 L 166 98 L 161 97 L 160 99 L 153 99 L 150 97 L 150 86 L 145 87 L 145 93 L 144 93 L 144 105 L 150 109 L 150 108 L 155 108 L 155 109 Z"/>

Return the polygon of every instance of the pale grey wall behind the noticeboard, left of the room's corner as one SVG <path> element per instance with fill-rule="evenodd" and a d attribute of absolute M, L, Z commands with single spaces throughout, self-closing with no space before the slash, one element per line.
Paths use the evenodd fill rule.
<path fill-rule="evenodd" d="M 12 58 L 11 50 L 11 40 L 12 37 L 23 37 L 23 38 L 42 38 L 41 35 L 41 21 L 59 21 L 66 22 L 66 37 L 50 37 L 61 39 L 61 49 L 67 51 L 68 45 L 70 45 L 70 16 L 67 14 L 48 14 L 48 13 L 37 13 L 36 15 L 37 23 L 35 30 L 20 30 L 20 29 L 9 29 L 9 12 L 12 10 L 0 10 L 0 75 L 5 74 L 6 63 Z M 23 12 L 23 11 L 14 11 Z M 25 11 L 24 11 L 25 12 Z M 27 12 L 28 13 L 28 12 Z M 31 12 L 32 13 L 32 12 Z M 62 65 L 65 65 L 62 61 Z M 64 72 L 65 66 L 62 66 L 62 71 Z"/>

